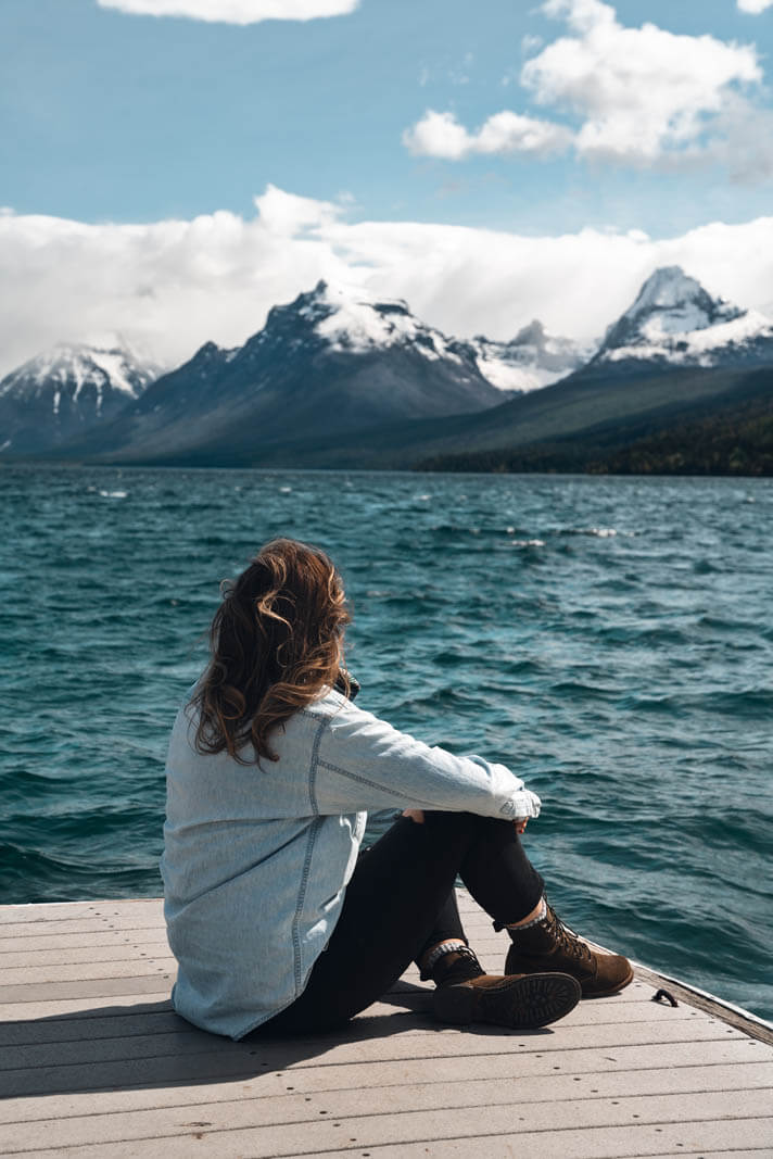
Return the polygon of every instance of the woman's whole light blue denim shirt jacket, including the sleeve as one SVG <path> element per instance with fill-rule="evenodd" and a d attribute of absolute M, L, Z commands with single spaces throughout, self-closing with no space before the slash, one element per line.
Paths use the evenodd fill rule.
<path fill-rule="evenodd" d="M 194 731 L 181 709 L 161 861 L 173 1001 L 232 1038 L 302 993 L 338 920 L 367 810 L 539 814 L 539 797 L 504 765 L 428 748 L 334 691 L 276 730 L 277 761 L 197 753 Z"/>

